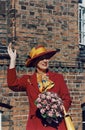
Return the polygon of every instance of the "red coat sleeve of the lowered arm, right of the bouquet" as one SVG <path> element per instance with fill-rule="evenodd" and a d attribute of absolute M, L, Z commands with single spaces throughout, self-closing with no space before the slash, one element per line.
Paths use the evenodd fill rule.
<path fill-rule="evenodd" d="M 59 82 L 59 87 L 60 87 L 59 95 L 62 98 L 64 107 L 67 111 L 69 107 L 71 106 L 72 100 L 71 100 L 70 92 L 68 90 L 68 87 L 66 85 L 63 75 L 60 74 L 58 82 Z"/>

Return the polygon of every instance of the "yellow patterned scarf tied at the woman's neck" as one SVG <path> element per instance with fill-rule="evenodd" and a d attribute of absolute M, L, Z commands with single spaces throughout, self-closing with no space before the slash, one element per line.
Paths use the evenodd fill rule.
<path fill-rule="evenodd" d="M 37 74 L 38 87 L 40 92 L 47 91 L 54 86 L 54 82 L 47 75 Z"/>

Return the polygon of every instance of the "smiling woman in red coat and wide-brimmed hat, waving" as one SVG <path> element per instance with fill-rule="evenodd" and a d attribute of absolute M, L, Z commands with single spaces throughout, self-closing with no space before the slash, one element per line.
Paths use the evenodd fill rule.
<path fill-rule="evenodd" d="M 59 52 L 59 49 L 47 51 L 43 46 L 34 47 L 29 53 L 26 66 L 35 67 L 36 71 L 32 75 L 28 74 L 17 78 L 15 70 L 16 50 L 12 50 L 11 44 L 8 46 L 8 54 L 10 56 L 10 65 L 7 73 L 8 86 L 13 91 L 26 91 L 29 98 L 30 111 L 26 130 L 66 130 L 64 120 L 59 125 L 46 124 L 47 122 L 42 119 L 35 105 L 38 95 L 44 91 L 57 93 L 63 100 L 66 110 L 71 105 L 71 98 L 63 76 L 48 69 L 49 59 L 57 52 Z M 49 84 L 48 86 L 43 85 L 43 79 Z"/>

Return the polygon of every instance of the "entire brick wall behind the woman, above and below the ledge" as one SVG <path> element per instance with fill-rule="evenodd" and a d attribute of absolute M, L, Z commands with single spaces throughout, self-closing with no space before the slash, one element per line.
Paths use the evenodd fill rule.
<path fill-rule="evenodd" d="M 17 74 L 21 76 L 28 73 L 24 61 L 33 46 L 43 44 L 47 48 L 60 48 L 60 53 L 55 55 L 50 63 L 50 69 L 63 73 L 73 101 L 69 113 L 76 130 L 81 128 L 85 68 L 78 66 L 76 60 L 79 53 L 78 1 L 16 0 L 14 6 L 13 1 L 9 0 L 6 5 L 4 22 L 7 33 L 1 37 L 1 45 L 7 46 L 9 42 L 13 42 L 13 47 L 17 49 Z M 3 34 L 3 30 L 1 33 Z M 3 36 L 2 34 L 0 36 Z M 29 112 L 28 99 L 26 93 L 8 89 L 6 82 L 8 64 L 9 59 L 0 60 L 1 99 L 13 106 L 12 109 L 4 109 L 3 130 L 25 130 Z"/>

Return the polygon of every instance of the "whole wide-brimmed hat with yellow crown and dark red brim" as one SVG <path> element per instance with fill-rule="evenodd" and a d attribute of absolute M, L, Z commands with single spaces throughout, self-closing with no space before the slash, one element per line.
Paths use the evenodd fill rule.
<path fill-rule="evenodd" d="M 50 59 L 54 54 L 59 52 L 60 49 L 56 50 L 47 50 L 44 46 L 38 46 L 32 48 L 28 55 L 28 59 L 26 60 L 25 65 L 27 67 L 34 67 L 38 61 L 42 59 Z"/>

